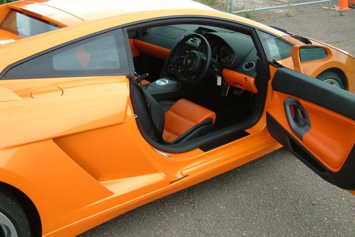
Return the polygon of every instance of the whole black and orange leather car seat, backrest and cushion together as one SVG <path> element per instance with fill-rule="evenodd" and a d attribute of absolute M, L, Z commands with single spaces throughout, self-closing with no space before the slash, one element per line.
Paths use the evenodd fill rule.
<path fill-rule="evenodd" d="M 136 97 L 135 113 L 140 118 L 144 131 L 153 140 L 163 139 L 165 143 L 176 144 L 204 135 L 213 129 L 216 119 L 213 111 L 186 99 L 158 103 L 137 83 L 134 83 L 133 88 Z M 148 103 L 144 103 L 146 101 Z"/>

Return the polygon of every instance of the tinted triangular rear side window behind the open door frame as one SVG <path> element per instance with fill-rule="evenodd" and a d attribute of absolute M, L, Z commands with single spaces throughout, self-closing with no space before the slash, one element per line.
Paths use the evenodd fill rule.
<path fill-rule="evenodd" d="M 129 72 L 121 30 L 55 49 L 10 69 L 4 79 L 115 75 Z"/>

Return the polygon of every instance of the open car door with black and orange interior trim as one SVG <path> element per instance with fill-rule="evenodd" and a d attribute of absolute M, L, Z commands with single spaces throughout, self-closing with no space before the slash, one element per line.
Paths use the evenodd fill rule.
<path fill-rule="evenodd" d="M 355 94 L 285 67 L 271 84 L 270 134 L 324 180 L 355 194 Z"/>

